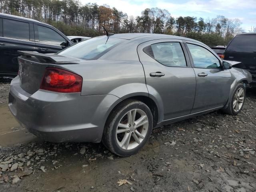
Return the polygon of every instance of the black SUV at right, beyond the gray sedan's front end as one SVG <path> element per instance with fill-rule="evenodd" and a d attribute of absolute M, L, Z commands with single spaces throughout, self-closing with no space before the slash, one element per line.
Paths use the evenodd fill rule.
<path fill-rule="evenodd" d="M 240 61 L 241 68 L 252 74 L 256 83 L 256 33 L 242 33 L 235 36 L 224 52 L 224 60 Z"/>

